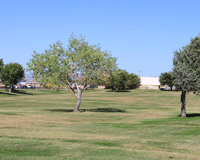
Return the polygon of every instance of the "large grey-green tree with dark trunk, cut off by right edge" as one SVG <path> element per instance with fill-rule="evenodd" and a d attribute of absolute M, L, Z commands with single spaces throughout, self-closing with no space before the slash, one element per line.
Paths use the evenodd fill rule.
<path fill-rule="evenodd" d="M 200 36 L 191 39 L 189 45 L 174 52 L 174 83 L 182 90 L 181 117 L 186 117 L 186 92 L 200 91 Z"/>

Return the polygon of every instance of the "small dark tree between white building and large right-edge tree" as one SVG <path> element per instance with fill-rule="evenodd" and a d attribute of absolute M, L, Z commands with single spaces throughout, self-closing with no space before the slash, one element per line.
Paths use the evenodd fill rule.
<path fill-rule="evenodd" d="M 174 80 L 174 78 L 172 76 L 172 72 L 161 73 L 161 75 L 159 77 L 160 84 L 168 85 L 171 88 L 171 91 L 172 91 L 172 87 L 174 85 L 173 80 Z"/>

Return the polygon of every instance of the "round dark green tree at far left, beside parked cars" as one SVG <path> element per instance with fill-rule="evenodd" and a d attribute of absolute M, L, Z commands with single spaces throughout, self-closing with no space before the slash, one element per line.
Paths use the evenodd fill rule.
<path fill-rule="evenodd" d="M 9 92 L 12 91 L 12 86 L 17 84 L 24 77 L 24 69 L 18 63 L 6 64 L 1 72 L 1 81 L 7 86 L 10 85 Z"/>

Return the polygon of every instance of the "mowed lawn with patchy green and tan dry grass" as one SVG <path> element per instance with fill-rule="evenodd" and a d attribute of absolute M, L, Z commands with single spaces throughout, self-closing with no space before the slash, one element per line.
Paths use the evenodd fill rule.
<path fill-rule="evenodd" d="M 200 159 L 200 97 L 181 92 L 0 90 L 0 159 Z"/>

